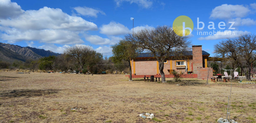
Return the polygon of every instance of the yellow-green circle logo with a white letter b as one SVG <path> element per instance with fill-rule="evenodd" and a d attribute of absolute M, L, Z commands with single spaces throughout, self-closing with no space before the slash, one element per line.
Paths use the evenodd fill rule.
<path fill-rule="evenodd" d="M 188 16 L 179 16 L 173 21 L 172 28 L 177 35 L 187 36 L 192 33 L 194 24 Z"/>

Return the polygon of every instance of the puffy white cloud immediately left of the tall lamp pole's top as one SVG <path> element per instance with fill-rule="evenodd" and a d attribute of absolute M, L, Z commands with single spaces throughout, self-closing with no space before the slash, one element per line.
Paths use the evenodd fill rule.
<path fill-rule="evenodd" d="M 124 35 L 129 33 L 129 29 L 117 22 L 110 22 L 107 25 L 102 25 L 100 28 L 100 33 L 105 35 Z"/>

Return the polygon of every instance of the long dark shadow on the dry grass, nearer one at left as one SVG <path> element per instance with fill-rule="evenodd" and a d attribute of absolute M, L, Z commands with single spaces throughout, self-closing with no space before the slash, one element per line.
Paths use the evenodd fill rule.
<path fill-rule="evenodd" d="M 49 95 L 58 93 L 59 90 L 46 89 L 46 90 L 34 90 L 34 89 L 20 89 L 20 90 L 3 90 L 0 91 L 0 97 L 34 97 L 41 95 Z"/>

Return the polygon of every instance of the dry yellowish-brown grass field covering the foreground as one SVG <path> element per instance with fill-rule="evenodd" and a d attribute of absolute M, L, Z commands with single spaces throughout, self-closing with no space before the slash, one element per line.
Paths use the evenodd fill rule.
<path fill-rule="evenodd" d="M 0 72 L 0 122 L 215 123 L 225 118 L 230 82 L 182 79 L 176 86 L 172 78 L 127 80 L 125 75 Z M 72 111 L 77 101 L 82 110 Z M 155 118 L 139 117 L 146 112 Z M 233 82 L 231 118 L 240 114 L 237 122 L 255 123 L 256 84 Z"/>

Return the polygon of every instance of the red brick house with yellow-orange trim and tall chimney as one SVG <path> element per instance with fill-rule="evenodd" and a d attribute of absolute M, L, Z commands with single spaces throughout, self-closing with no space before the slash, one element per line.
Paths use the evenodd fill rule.
<path fill-rule="evenodd" d="M 192 51 L 188 51 L 187 59 L 168 59 L 164 62 L 164 74 L 167 78 L 172 78 L 172 71 L 182 72 L 184 78 L 207 79 L 212 77 L 212 68 L 207 68 L 207 58 L 209 53 L 202 51 L 202 45 L 192 46 Z M 151 53 L 140 53 L 136 59 L 132 59 L 132 77 L 141 78 L 145 75 L 160 76 L 159 63 Z M 210 69 L 210 70 L 209 70 Z"/>

